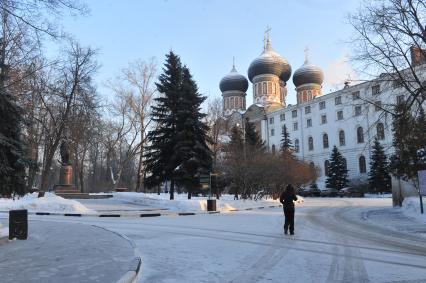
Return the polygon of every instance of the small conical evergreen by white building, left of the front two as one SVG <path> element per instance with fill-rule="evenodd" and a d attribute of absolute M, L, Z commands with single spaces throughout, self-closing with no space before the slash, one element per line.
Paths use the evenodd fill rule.
<path fill-rule="evenodd" d="M 348 170 L 345 160 L 336 146 L 330 156 L 330 165 L 328 167 L 328 177 L 325 181 L 327 188 L 342 189 L 348 183 Z"/>

